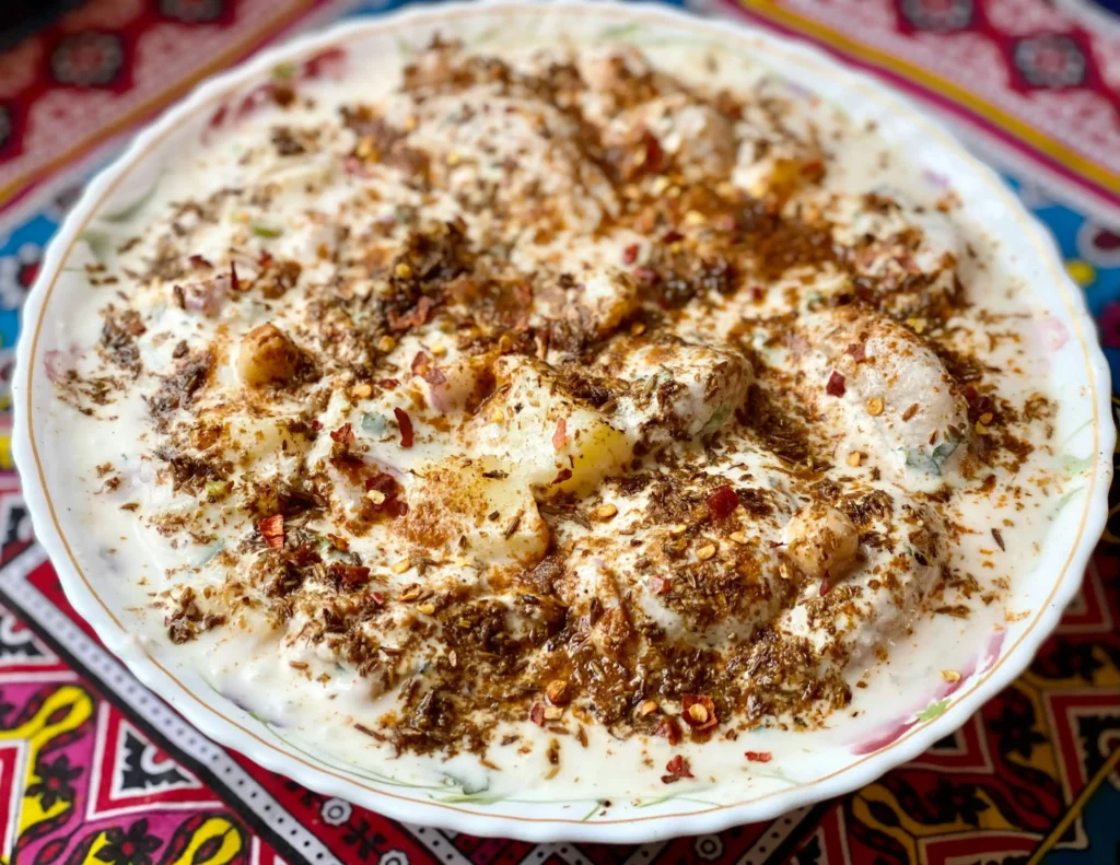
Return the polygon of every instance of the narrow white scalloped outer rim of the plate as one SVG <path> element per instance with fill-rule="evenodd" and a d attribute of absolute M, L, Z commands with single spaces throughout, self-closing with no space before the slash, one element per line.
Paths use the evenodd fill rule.
<path fill-rule="evenodd" d="M 433 4 L 409 6 L 389 15 L 376 18 L 357 18 L 334 25 L 326 30 L 307 34 L 287 40 L 281 45 L 270 47 L 250 59 L 211 77 L 197 85 L 188 96 L 176 102 L 164 111 L 158 119 L 139 132 L 116 159 L 102 169 L 86 186 L 77 204 L 67 214 L 47 249 L 43 268 L 24 306 L 22 320 L 39 322 L 43 307 L 59 267 L 64 251 L 68 251 L 75 240 L 80 226 L 91 215 L 105 189 L 116 177 L 130 166 L 138 162 L 146 147 L 159 134 L 174 127 L 181 118 L 192 114 L 212 94 L 225 90 L 235 83 L 254 80 L 276 66 L 283 59 L 299 56 L 315 48 L 326 48 L 339 40 L 345 40 L 355 31 L 392 30 L 408 25 L 410 21 L 426 16 L 447 12 L 469 12 L 505 9 L 510 11 L 532 9 L 533 7 L 560 7 L 590 12 L 609 10 L 616 17 L 632 17 L 640 21 L 650 17 L 661 19 L 661 22 L 679 21 L 692 28 L 708 30 L 713 40 L 731 30 L 737 38 L 762 39 L 764 43 L 782 46 L 792 54 L 800 54 L 806 61 L 834 69 L 838 75 L 848 81 L 860 83 L 874 89 L 884 101 L 896 109 L 899 114 L 921 120 L 928 127 L 940 130 L 958 149 L 958 156 L 963 158 L 972 171 L 983 179 L 1005 188 L 1002 180 L 988 166 L 969 155 L 958 142 L 955 136 L 945 130 L 944 125 L 927 112 L 920 111 L 903 101 L 903 96 L 874 77 L 853 69 L 837 61 L 822 49 L 797 39 L 777 36 L 772 32 L 749 27 L 738 20 L 701 19 L 675 8 L 646 2 L 609 2 L 607 0 L 482 0 L 482 2 L 446 2 Z M 724 29 L 724 34 L 720 32 Z M 949 145 L 944 145 L 949 146 Z M 1042 223 L 1006 189 L 1009 205 L 1033 232 L 1036 245 L 1046 263 L 1064 273 L 1057 245 Z M 712 809 L 692 813 L 668 816 L 640 816 L 634 813 L 631 819 L 618 819 L 601 822 L 581 822 L 571 819 L 524 818 L 506 815 L 488 813 L 483 809 L 467 809 L 458 806 L 435 801 L 414 801 L 401 799 L 391 794 L 361 787 L 332 773 L 317 770 L 291 755 L 271 747 L 262 747 L 252 736 L 246 735 L 235 722 L 216 711 L 207 709 L 204 701 L 175 682 L 157 662 L 144 652 L 138 641 L 123 629 L 119 629 L 83 583 L 81 576 L 69 559 L 65 541 L 56 530 L 50 515 L 46 491 L 39 481 L 38 466 L 32 454 L 27 412 L 20 409 L 28 399 L 29 362 L 35 342 L 35 332 L 25 329 L 20 334 L 17 346 L 16 371 L 12 380 L 12 404 L 15 424 L 12 430 L 12 454 L 16 465 L 20 468 L 24 495 L 36 530 L 36 538 L 49 555 L 58 573 L 59 580 L 74 605 L 75 610 L 93 625 L 106 647 L 116 654 L 129 670 L 149 689 L 167 699 L 190 724 L 218 744 L 241 751 L 265 769 L 279 772 L 288 778 L 323 793 L 339 797 L 388 817 L 423 822 L 426 825 L 465 831 L 473 835 L 512 837 L 529 841 L 587 840 L 599 843 L 642 843 L 652 841 L 678 835 L 694 835 L 713 833 L 744 822 L 772 819 L 781 813 L 813 802 L 840 796 L 862 787 L 896 765 L 914 759 L 930 745 L 960 727 L 983 703 L 1016 679 L 1027 667 L 1042 642 L 1056 626 L 1061 613 L 1072 599 L 1081 585 L 1084 569 L 1100 537 L 1108 513 L 1108 487 L 1112 475 L 1112 450 L 1116 443 L 1116 429 L 1111 422 L 1110 410 L 1110 373 L 1099 344 L 1090 335 L 1095 334 L 1095 326 L 1082 292 L 1066 278 L 1060 291 L 1065 295 L 1067 307 L 1076 324 L 1080 325 L 1081 346 L 1089 361 L 1090 383 L 1096 390 L 1098 401 L 1094 407 L 1098 425 L 1095 439 L 1098 454 L 1094 461 L 1094 472 L 1091 482 L 1095 485 L 1094 495 L 1086 496 L 1086 510 L 1083 518 L 1083 531 L 1080 545 L 1071 550 L 1068 567 L 1061 583 L 1055 587 L 1051 603 L 1046 610 L 1037 614 L 1030 630 L 1015 644 L 1009 657 L 1002 659 L 998 669 L 990 671 L 974 689 L 959 699 L 953 700 L 949 708 L 939 717 L 924 723 L 921 728 L 909 735 L 904 742 L 892 744 L 884 750 L 867 755 L 859 765 L 849 766 L 836 774 L 800 784 L 791 790 L 778 791 L 762 799 L 746 802 L 719 806 Z M 592 799 L 588 799 L 590 803 Z M 623 817 L 626 817 L 625 806 L 617 806 Z M 633 810 L 633 809 L 631 809 Z"/>

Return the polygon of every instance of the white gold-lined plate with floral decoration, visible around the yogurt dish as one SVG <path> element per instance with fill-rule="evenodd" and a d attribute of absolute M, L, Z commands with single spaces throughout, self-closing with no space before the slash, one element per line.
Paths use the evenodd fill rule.
<path fill-rule="evenodd" d="M 830 747 L 827 759 L 811 753 L 814 734 L 803 734 L 805 748 L 776 754 L 765 783 L 759 781 L 747 792 L 741 784 L 716 783 L 702 794 L 673 789 L 668 792 L 675 794 L 669 797 L 616 801 L 608 808 L 594 799 L 493 801 L 485 796 L 411 788 L 317 754 L 217 695 L 169 647 L 134 639 L 130 614 L 110 573 L 99 567 L 95 539 L 81 528 L 77 512 L 82 505 L 72 509 L 85 501 L 84 492 L 67 471 L 65 430 L 50 422 L 58 404 L 47 365 L 57 356 L 50 353 L 71 348 L 67 316 L 77 306 L 75 299 L 96 290 L 88 287 L 82 269 L 73 266 L 88 260 L 99 243 L 110 242 L 114 223 L 177 152 L 205 140 L 207 124 L 222 118 L 216 114 L 220 106 L 251 93 L 280 63 L 329 58 L 338 50 L 407 53 L 402 46 L 424 44 L 437 29 L 444 36 L 463 37 L 469 45 L 494 32 L 551 32 L 542 29 L 549 27 L 591 40 L 631 39 L 638 45 L 687 40 L 720 46 L 764 65 L 793 87 L 841 105 L 857 123 L 875 120 L 897 152 L 921 166 L 932 182 L 955 190 L 970 222 L 996 235 L 1001 266 L 1029 286 L 1042 368 L 1049 389 L 1063 394 L 1055 426 L 1064 452 L 1074 457 L 1072 481 L 1034 567 L 1012 580 L 1010 603 L 1029 615 L 1009 623 L 1000 640 L 979 651 L 974 667 L 960 682 L 925 694 L 917 709 L 892 701 L 866 706 L 866 735 L 857 745 Z M 36 534 L 75 608 L 147 686 L 217 742 L 312 789 L 399 819 L 538 841 L 644 841 L 711 833 L 847 792 L 923 752 L 1018 676 L 1057 623 L 1104 524 L 1114 444 L 1108 366 L 1081 294 L 1065 276 L 1048 234 L 991 170 L 902 99 L 816 50 L 727 21 L 703 21 L 641 4 L 557 2 L 543 8 L 510 2 L 410 9 L 297 39 L 199 87 L 138 136 L 90 184 L 52 242 L 25 309 L 13 393 L 15 455 Z M 984 641 L 978 638 L 978 642 Z"/>

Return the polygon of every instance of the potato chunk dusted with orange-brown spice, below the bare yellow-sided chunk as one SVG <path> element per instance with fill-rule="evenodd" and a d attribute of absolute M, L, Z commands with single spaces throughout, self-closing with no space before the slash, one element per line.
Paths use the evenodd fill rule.
<path fill-rule="evenodd" d="M 405 532 L 428 550 L 492 565 L 531 567 L 549 547 L 536 502 L 512 466 L 489 457 L 448 457 L 414 469 Z M 465 542 L 461 539 L 466 539 Z"/>

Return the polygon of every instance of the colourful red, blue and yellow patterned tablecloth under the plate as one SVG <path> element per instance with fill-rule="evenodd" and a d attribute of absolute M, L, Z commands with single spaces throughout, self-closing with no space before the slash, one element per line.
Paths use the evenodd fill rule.
<path fill-rule="evenodd" d="M 101 647 L 3 473 L 19 307 L 43 249 L 129 130 L 200 76 L 393 4 L 90 0 L 0 53 L 0 864 L 1120 861 L 1120 520 L 1029 671 L 922 757 L 769 824 L 641 847 L 482 839 L 319 796 L 206 740 Z M 1054 233 L 1120 372 L 1118 0 L 702 10 L 811 39 L 944 115 Z"/>

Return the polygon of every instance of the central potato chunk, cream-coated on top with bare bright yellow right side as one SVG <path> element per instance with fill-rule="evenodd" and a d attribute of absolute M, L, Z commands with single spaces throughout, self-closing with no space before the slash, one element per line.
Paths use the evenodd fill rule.
<path fill-rule="evenodd" d="M 538 499 L 587 495 L 603 478 L 622 473 L 633 444 L 603 412 L 568 396 L 551 366 L 507 356 L 494 372 L 497 396 L 483 409 L 482 435 Z"/>

